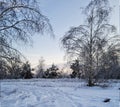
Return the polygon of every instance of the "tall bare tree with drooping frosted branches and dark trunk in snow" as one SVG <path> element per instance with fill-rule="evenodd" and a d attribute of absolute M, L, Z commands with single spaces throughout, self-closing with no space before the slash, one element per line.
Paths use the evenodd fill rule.
<path fill-rule="evenodd" d="M 110 47 L 118 50 L 120 38 L 115 26 L 108 23 L 111 8 L 108 0 L 92 0 L 84 9 L 84 25 L 72 27 L 62 38 L 63 48 L 69 57 L 79 58 L 84 65 L 88 85 L 94 84 L 99 59 Z"/>

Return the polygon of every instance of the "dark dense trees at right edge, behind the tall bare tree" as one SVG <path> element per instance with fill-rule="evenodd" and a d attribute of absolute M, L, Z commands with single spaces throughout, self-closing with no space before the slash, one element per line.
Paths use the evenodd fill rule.
<path fill-rule="evenodd" d="M 101 57 L 100 72 L 97 77 L 103 79 L 120 78 L 119 56 L 113 49 L 108 50 Z"/>

